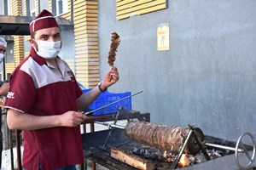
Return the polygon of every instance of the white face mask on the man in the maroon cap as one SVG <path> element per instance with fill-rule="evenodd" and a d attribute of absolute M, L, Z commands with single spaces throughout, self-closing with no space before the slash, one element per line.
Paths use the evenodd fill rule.
<path fill-rule="evenodd" d="M 36 41 L 36 40 L 35 40 Z M 55 59 L 61 50 L 61 41 L 58 42 L 47 42 L 47 41 L 36 41 L 38 42 L 37 54 L 44 59 Z"/>

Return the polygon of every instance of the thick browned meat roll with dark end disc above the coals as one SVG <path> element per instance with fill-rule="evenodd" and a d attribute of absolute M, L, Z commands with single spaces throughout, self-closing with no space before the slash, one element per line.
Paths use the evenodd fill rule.
<path fill-rule="evenodd" d="M 188 133 L 189 128 L 149 122 L 128 122 L 125 127 L 125 135 L 130 139 L 170 152 L 178 152 L 180 150 Z M 196 127 L 195 133 L 202 141 L 204 137 L 201 129 Z M 190 138 L 184 152 L 196 155 L 199 151 L 200 148 L 196 144 L 195 138 Z"/>

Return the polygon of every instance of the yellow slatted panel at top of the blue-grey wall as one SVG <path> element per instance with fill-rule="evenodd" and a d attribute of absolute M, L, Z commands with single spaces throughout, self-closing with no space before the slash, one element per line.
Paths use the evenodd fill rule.
<path fill-rule="evenodd" d="M 117 20 L 167 8 L 167 0 L 116 0 Z"/>

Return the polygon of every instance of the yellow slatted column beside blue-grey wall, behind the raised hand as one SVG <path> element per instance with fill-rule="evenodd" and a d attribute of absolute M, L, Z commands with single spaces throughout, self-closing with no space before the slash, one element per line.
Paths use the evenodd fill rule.
<path fill-rule="evenodd" d="M 73 2 L 76 77 L 87 88 L 99 82 L 98 2 Z"/>

